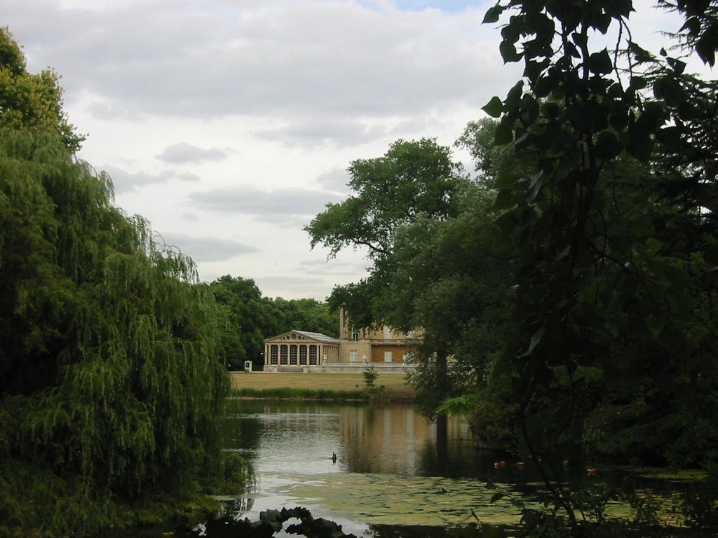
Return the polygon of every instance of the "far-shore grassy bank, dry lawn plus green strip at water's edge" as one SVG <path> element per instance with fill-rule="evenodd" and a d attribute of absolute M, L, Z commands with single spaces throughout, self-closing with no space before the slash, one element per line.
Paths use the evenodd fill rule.
<path fill-rule="evenodd" d="M 413 400 L 404 374 L 381 374 L 367 387 L 362 374 L 231 372 L 235 395 L 323 400 Z"/>

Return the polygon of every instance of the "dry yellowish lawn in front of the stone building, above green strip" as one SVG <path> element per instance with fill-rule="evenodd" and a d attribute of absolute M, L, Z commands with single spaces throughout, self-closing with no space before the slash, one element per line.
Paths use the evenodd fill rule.
<path fill-rule="evenodd" d="M 287 372 L 230 372 L 232 387 L 235 389 L 309 389 L 335 391 L 363 391 L 366 389 L 362 374 L 324 374 Z M 409 387 L 404 374 L 380 374 L 374 382 L 383 385 L 386 396 L 413 398 L 414 388 Z"/>

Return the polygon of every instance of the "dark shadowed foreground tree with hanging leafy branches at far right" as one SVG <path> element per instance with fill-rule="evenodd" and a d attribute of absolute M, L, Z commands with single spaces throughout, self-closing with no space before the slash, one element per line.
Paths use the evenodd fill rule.
<path fill-rule="evenodd" d="M 658 5 L 686 19 L 684 51 L 712 63 L 714 2 Z M 519 255 L 519 337 L 494 374 L 512 378 L 524 448 L 574 532 L 582 512 L 560 463 L 582 453 L 594 403 L 582 374 L 600 372 L 614 404 L 642 399 L 633 435 L 647 443 L 651 431 L 671 447 L 685 433 L 676 417 L 717 372 L 716 85 L 633 42 L 631 11 L 628 0 L 517 0 L 485 16 L 510 12 L 500 52 L 524 72 L 484 110 L 500 117 L 495 142 L 535 163 L 497 197 L 499 244 Z M 595 48 L 595 34 L 610 32 L 615 51 Z"/>

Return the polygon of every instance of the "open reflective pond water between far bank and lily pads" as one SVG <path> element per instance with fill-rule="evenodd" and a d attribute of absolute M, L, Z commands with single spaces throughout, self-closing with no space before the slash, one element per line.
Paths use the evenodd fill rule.
<path fill-rule="evenodd" d="M 449 419 L 447 434 L 437 435 L 437 424 L 409 404 L 240 400 L 233 405 L 225 423 L 227 447 L 247 453 L 260 469 L 479 477 L 495 461 L 493 453 L 474 448 L 465 423 Z"/>

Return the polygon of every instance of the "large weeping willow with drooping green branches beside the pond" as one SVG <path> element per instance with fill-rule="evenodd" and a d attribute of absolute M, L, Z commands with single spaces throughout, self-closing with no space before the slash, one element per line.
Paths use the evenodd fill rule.
<path fill-rule="evenodd" d="M 81 141 L 57 77 L 29 75 L 0 30 L 5 532 L 96 534 L 126 518 L 118 500 L 246 471 L 221 449 L 220 310 L 192 260 L 115 207 L 108 176 L 75 159 Z"/>

